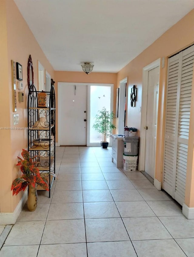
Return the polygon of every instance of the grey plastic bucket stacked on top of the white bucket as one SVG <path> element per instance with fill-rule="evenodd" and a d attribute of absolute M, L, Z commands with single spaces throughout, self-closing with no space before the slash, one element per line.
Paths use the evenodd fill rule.
<path fill-rule="evenodd" d="M 124 154 L 134 156 L 138 154 L 139 137 L 124 136 Z"/>

